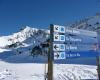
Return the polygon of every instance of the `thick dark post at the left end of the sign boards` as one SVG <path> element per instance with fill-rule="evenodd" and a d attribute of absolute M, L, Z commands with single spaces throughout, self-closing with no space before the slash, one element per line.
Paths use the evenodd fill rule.
<path fill-rule="evenodd" d="M 53 26 L 50 25 L 50 48 L 48 54 L 48 80 L 53 80 Z"/>

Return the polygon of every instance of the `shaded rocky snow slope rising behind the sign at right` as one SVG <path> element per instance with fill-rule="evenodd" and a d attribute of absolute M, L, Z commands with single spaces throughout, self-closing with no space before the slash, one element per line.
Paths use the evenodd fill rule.
<path fill-rule="evenodd" d="M 73 24 L 68 25 L 68 27 L 90 31 L 100 30 L 100 13 L 96 14 L 95 16 L 76 21 Z"/>

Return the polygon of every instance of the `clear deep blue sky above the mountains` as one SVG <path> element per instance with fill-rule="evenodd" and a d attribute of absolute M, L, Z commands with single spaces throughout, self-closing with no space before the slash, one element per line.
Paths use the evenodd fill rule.
<path fill-rule="evenodd" d="M 0 0 L 0 36 L 30 26 L 68 25 L 100 12 L 100 0 Z"/>

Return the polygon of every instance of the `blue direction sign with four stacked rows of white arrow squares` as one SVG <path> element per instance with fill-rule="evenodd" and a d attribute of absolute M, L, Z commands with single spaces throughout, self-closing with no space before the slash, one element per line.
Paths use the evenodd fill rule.
<path fill-rule="evenodd" d="M 99 55 L 96 32 L 53 25 L 52 36 L 56 60 Z"/>

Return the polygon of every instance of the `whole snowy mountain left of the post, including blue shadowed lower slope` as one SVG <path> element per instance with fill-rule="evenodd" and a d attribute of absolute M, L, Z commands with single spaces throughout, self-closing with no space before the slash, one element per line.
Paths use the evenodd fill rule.
<path fill-rule="evenodd" d="M 34 56 L 42 55 L 47 58 L 45 47 L 49 30 L 26 26 L 20 32 L 0 37 L 0 59 L 12 63 L 32 62 Z M 24 61 L 24 59 L 26 59 Z M 40 57 L 39 57 L 40 59 Z M 38 61 L 42 61 L 39 60 Z M 47 60 L 47 59 L 46 59 Z M 36 60 L 37 61 L 37 60 Z"/>

